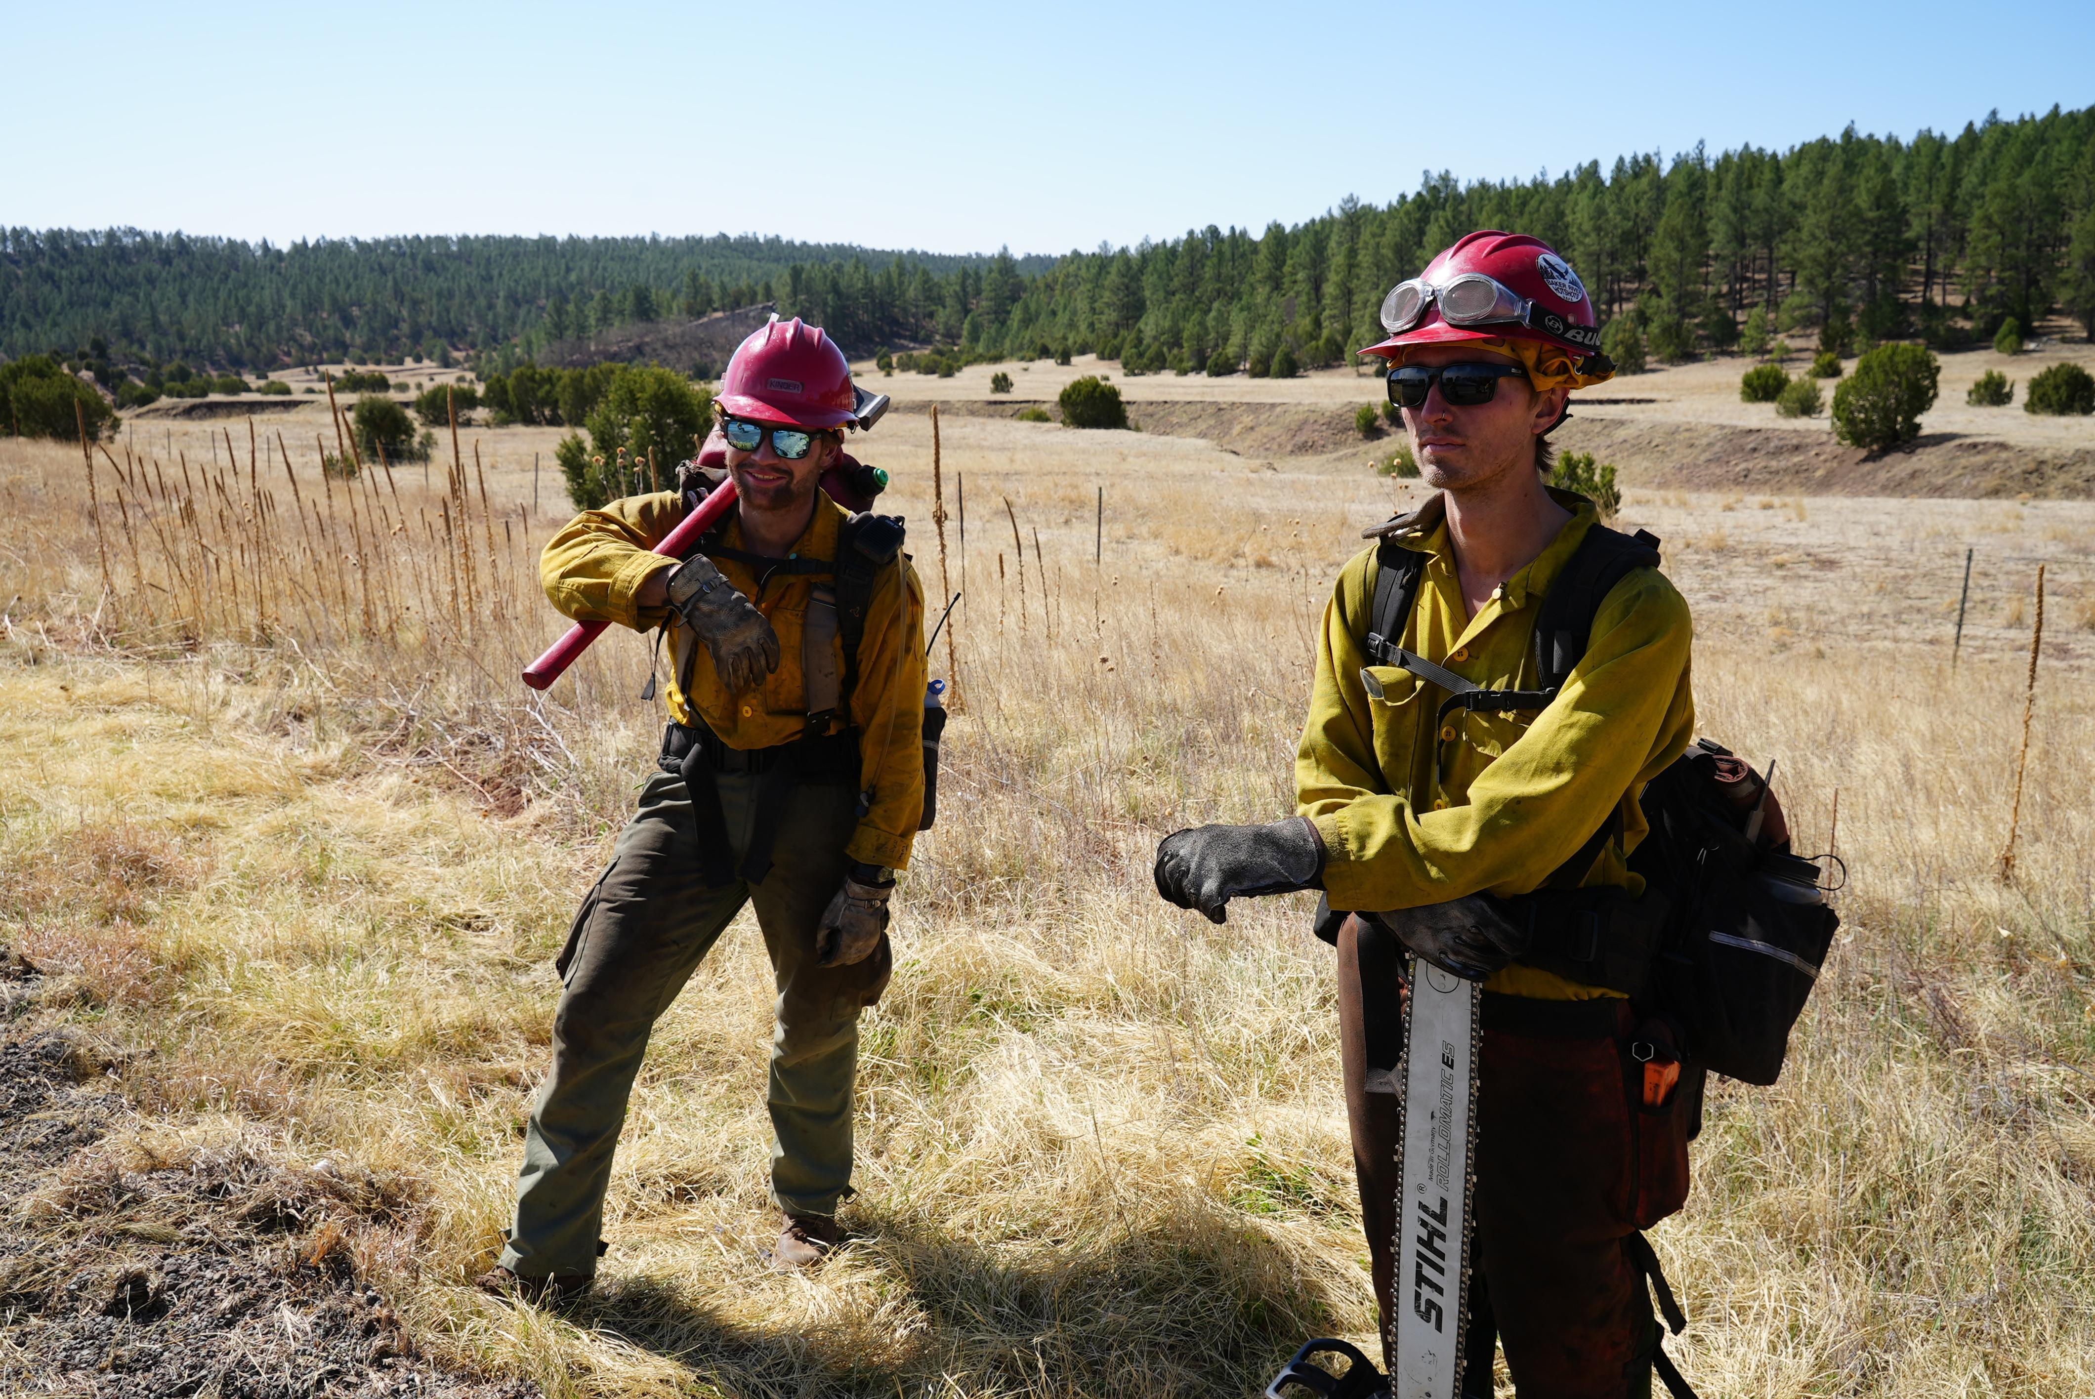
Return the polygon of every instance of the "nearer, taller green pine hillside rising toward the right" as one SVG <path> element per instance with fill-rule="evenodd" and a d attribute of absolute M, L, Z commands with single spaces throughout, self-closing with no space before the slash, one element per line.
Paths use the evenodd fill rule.
<path fill-rule="evenodd" d="M 1037 279 L 960 270 L 936 302 L 851 262 L 809 266 L 781 306 L 846 339 L 905 333 L 964 358 L 1068 346 L 1142 369 L 1257 367 L 1286 346 L 1316 364 L 1381 339 L 1389 287 L 1473 228 L 1550 241 L 1601 316 L 1634 312 L 1624 329 L 1668 360 L 1733 346 L 1754 308 L 1756 333 L 1806 329 L 1839 348 L 1957 343 L 2057 310 L 2095 331 L 2095 109 L 1955 136 L 1848 130 L 1785 153 L 1638 155 L 1508 184 L 1439 174 L 1389 205 L 1347 199 L 1257 237 L 1207 228 L 1068 256 Z"/>

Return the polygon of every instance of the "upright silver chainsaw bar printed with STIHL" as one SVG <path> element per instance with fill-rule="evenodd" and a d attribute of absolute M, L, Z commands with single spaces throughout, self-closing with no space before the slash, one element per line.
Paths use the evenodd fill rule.
<path fill-rule="evenodd" d="M 1469 1322 L 1477 1167 L 1479 982 L 1412 957 L 1397 1060 L 1402 1194 L 1391 1280 L 1393 1399 L 1456 1399 Z"/>

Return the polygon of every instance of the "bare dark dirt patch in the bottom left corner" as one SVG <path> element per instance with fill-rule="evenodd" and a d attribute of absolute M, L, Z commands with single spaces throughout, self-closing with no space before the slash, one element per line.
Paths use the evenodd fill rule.
<path fill-rule="evenodd" d="M 38 968 L 0 949 L 6 1009 Z M 75 1030 L 0 1039 L 0 1391 L 159 1399 L 442 1395 L 513 1380 L 415 1353 L 358 1282 L 356 1238 L 396 1204 L 339 1169 L 293 1173 L 233 1146 L 157 1156 Z"/>

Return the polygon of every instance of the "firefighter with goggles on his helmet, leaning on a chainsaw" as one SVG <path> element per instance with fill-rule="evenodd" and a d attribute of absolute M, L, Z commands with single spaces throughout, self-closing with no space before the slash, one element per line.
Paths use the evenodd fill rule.
<path fill-rule="evenodd" d="M 1624 993 L 1657 940 L 1628 854 L 1645 836 L 1638 794 L 1693 737 L 1689 609 L 1640 565 L 1657 561 L 1640 540 L 1596 534 L 1592 503 L 1544 486 L 1544 434 L 1569 392 L 1613 373 L 1584 285 L 1548 245 L 1473 232 L 1402 283 L 1383 323 L 1391 337 L 1368 354 L 1389 360 L 1439 494 L 1370 530 L 1383 542 L 1339 574 L 1299 815 L 1177 831 L 1156 886 L 1215 921 L 1232 896 L 1301 888 L 1341 911 L 1320 936 L 1339 947 L 1387 1359 L 1404 953 L 1483 982 L 1469 1374 L 1490 1389 L 1502 1338 L 1523 1399 L 1647 1393 L 1659 1332 L 1638 1229 L 1684 1200 L 1699 1097 L 1680 1102 L 1632 1056 L 1661 1028 Z M 1609 551 L 1622 563 L 1594 580 L 1582 559 Z M 1550 687 L 1538 618 L 1582 580 L 1590 635 Z"/>

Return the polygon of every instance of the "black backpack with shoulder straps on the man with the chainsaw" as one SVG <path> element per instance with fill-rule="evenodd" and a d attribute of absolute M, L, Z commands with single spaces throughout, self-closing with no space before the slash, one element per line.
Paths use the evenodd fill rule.
<path fill-rule="evenodd" d="M 1372 664 L 1410 670 L 1448 691 L 1441 716 L 1456 708 L 1546 708 L 1586 656 L 1609 591 L 1632 570 L 1659 565 L 1653 534 L 1592 526 L 1536 614 L 1542 683 L 1481 689 L 1399 645 L 1427 561 L 1389 538 L 1408 524 L 1410 517 L 1399 517 L 1370 532 L 1381 547 L 1364 649 Z M 1630 869 L 1645 878 L 1642 898 L 1619 888 L 1580 888 L 1622 827 L 1617 808 L 1542 888 L 1502 903 L 1508 917 L 1529 928 L 1523 963 L 1622 991 L 1640 1012 L 1674 1026 L 1686 1064 L 1766 1085 L 1783 1068 L 1789 1030 L 1839 917 L 1818 892 L 1812 861 L 1747 838 L 1749 817 L 1718 790 L 1720 756 L 1730 754 L 1697 739 L 1645 787 L 1640 806 L 1651 836 L 1630 857 Z M 1328 907 L 1320 911 L 1318 936 L 1337 936 Z"/>

